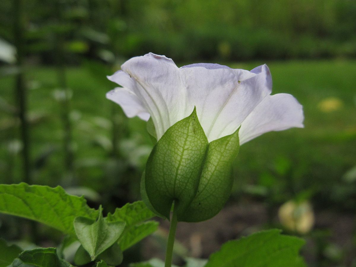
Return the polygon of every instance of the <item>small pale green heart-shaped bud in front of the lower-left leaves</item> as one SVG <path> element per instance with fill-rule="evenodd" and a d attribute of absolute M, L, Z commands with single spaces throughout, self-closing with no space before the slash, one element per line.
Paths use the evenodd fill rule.
<path fill-rule="evenodd" d="M 74 228 L 80 243 L 94 261 L 99 254 L 119 239 L 124 231 L 125 223 L 121 221 L 108 223 L 103 218 L 100 206 L 98 220 L 77 217 L 74 219 Z"/>

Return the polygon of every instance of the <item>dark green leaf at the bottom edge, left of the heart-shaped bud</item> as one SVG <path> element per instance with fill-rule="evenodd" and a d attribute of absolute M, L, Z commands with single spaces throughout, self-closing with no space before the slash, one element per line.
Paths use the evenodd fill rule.
<path fill-rule="evenodd" d="M 35 248 L 23 251 L 9 267 L 73 267 L 57 256 L 56 248 Z"/>

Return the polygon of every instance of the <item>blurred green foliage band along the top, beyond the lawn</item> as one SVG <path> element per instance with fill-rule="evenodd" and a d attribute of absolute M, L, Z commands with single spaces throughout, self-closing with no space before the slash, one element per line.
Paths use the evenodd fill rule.
<path fill-rule="evenodd" d="M 11 40 L 11 1 L 1 2 L 0 35 Z M 356 5 L 347 0 L 298 1 L 63 1 L 26 4 L 28 48 L 48 54 L 51 33 L 66 33 L 66 49 L 110 61 L 160 52 L 181 61 L 200 58 L 320 58 L 355 55 Z M 268 15 L 267 15 L 268 14 Z M 58 16 L 57 16 L 58 17 Z M 34 27 L 30 27 L 34 25 Z M 194 25 L 194 27 L 193 27 Z M 47 57 L 46 59 L 44 57 Z M 78 56 L 67 57 L 75 61 Z"/>

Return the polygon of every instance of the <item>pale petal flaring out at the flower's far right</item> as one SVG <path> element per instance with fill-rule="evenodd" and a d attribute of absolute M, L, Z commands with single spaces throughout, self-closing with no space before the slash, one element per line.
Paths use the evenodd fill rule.
<path fill-rule="evenodd" d="M 292 95 L 268 95 L 242 122 L 240 145 L 265 132 L 303 128 L 303 120 L 303 106 Z"/>

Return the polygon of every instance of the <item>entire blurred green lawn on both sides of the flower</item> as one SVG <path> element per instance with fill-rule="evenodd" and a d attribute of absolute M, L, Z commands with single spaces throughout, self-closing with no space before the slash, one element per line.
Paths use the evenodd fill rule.
<path fill-rule="evenodd" d="M 252 69 L 263 63 L 227 65 Z M 328 198 L 333 186 L 341 183 L 343 174 L 356 164 L 356 61 L 340 59 L 267 64 L 273 78 L 272 94 L 290 93 L 300 101 L 304 107 L 305 128 L 266 133 L 243 145 L 234 167 L 235 195 L 246 192 L 248 184 L 273 190 L 278 184 L 276 190 L 282 197 L 277 201 L 310 188 L 312 195 Z M 114 88 L 114 84 L 108 82 L 105 75 L 113 71 L 104 66 L 93 67 L 89 63 L 81 68 L 67 69 L 68 86 L 73 91 L 71 117 L 77 182 L 99 192 L 107 190 L 113 183 L 117 185 L 103 180 L 137 181 L 151 146 L 145 123 L 137 118 L 128 120 L 117 107 L 115 119 L 120 138 L 124 141 L 121 142 L 119 163 L 108 166 L 113 134 L 112 104 L 105 98 L 105 93 Z M 32 159 L 36 159 L 39 165 L 34 183 L 56 185 L 63 182 L 64 164 L 61 105 L 53 98 L 53 90 L 58 86 L 56 71 L 51 67 L 28 68 L 27 80 L 32 87 L 28 92 L 30 113 L 43 115 L 31 126 Z M 15 105 L 13 88 L 12 77 L 1 78 L 1 97 Z M 332 111 L 323 111 L 321 103 L 330 98 L 326 107 L 330 108 L 335 101 L 338 106 Z M 0 114 L 1 179 L 20 182 L 21 159 L 18 153 L 11 154 L 7 149 L 11 140 L 19 138 L 18 129 L 11 126 L 14 121 L 12 115 L 4 110 Z M 142 153 L 143 157 L 135 158 L 132 151 Z M 137 170 L 132 171 L 132 167 Z M 117 168 L 125 171 L 117 171 Z M 6 178 L 9 176 L 10 180 Z"/>

